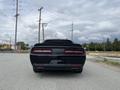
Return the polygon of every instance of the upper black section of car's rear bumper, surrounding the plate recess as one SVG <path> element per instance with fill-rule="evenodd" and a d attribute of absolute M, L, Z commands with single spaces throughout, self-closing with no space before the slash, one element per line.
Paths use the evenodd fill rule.
<path fill-rule="evenodd" d="M 50 64 L 51 60 L 62 60 L 59 64 L 82 64 L 84 65 L 86 56 L 35 56 L 30 55 L 32 64 Z"/>

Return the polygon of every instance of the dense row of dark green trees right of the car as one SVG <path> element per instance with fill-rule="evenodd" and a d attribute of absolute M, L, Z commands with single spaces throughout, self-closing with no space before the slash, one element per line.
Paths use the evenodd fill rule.
<path fill-rule="evenodd" d="M 114 39 L 114 41 L 110 41 L 109 38 L 107 38 L 106 42 L 102 43 L 95 43 L 91 42 L 89 44 L 83 44 L 84 47 L 87 48 L 87 50 L 90 51 L 120 51 L 120 40 L 117 38 Z"/>

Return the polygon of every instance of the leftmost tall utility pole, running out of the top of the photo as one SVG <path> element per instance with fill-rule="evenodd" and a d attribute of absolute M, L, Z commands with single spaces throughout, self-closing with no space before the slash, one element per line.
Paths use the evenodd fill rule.
<path fill-rule="evenodd" d="M 15 50 L 17 49 L 17 28 L 18 28 L 18 16 L 19 16 L 19 12 L 18 12 L 18 10 L 19 10 L 19 8 L 18 8 L 18 4 L 19 2 L 18 2 L 18 0 L 16 0 L 16 15 L 15 15 L 15 17 L 16 17 L 16 23 L 15 23 Z"/>

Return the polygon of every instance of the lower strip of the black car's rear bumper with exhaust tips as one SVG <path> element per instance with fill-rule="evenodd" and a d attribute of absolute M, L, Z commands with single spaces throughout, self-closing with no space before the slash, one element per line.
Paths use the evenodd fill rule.
<path fill-rule="evenodd" d="M 37 70 L 80 70 L 82 64 L 33 64 Z"/>

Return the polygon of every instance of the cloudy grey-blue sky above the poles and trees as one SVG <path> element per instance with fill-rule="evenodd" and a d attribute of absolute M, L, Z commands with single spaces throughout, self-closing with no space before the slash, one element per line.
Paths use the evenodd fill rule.
<path fill-rule="evenodd" d="M 10 38 L 14 43 L 15 2 L 0 0 L 0 43 Z M 45 39 L 71 39 L 72 22 L 74 42 L 120 39 L 120 0 L 19 0 L 17 41 L 37 43 L 41 6 L 42 22 L 47 23 Z"/>

